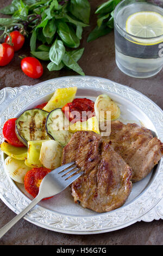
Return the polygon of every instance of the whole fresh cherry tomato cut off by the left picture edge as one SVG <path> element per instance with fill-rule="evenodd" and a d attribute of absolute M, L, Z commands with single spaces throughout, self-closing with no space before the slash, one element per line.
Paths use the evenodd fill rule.
<path fill-rule="evenodd" d="M 0 45 L 0 66 L 6 66 L 14 58 L 14 48 L 3 42 Z"/>

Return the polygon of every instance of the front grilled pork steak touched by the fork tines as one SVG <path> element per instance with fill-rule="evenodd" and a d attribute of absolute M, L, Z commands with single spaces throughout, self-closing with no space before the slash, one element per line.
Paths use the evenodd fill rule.
<path fill-rule="evenodd" d="M 131 169 L 101 136 L 74 133 L 62 154 L 62 164 L 76 161 L 84 170 L 71 186 L 74 201 L 96 212 L 122 206 L 131 191 Z"/>

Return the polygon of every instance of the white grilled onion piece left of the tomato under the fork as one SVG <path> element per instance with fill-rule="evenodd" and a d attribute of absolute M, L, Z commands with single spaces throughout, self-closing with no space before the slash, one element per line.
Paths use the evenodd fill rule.
<path fill-rule="evenodd" d="M 24 161 L 13 159 L 10 156 L 5 159 L 4 166 L 11 179 L 18 183 L 24 183 L 24 176 L 31 169 L 24 164 Z"/>

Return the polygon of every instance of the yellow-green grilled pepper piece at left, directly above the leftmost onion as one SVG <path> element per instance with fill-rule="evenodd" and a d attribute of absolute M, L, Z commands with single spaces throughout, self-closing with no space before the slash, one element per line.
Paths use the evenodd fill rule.
<path fill-rule="evenodd" d="M 17 160 L 24 160 L 27 157 L 27 148 L 17 148 L 7 142 L 1 144 L 1 150 L 8 156 Z"/>

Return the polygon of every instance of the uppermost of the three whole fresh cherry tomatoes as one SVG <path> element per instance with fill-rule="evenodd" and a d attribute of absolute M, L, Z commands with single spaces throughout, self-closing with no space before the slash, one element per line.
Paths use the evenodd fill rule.
<path fill-rule="evenodd" d="M 10 33 L 10 36 L 11 36 L 11 42 L 13 44 L 13 47 L 14 47 L 14 51 L 17 52 L 18 50 L 20 50 L 24 44 L 24 41 L 25 41 L 25 37 L 24 35 L 22 35 L 20 32 L 18 31 L 12 31 Z M 5 38 L 5 42 L 7 42 L 7 44 L 10 44 L 10 37 L 7 36 Z"/>

